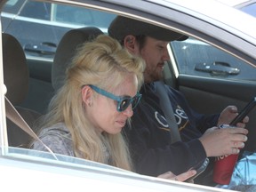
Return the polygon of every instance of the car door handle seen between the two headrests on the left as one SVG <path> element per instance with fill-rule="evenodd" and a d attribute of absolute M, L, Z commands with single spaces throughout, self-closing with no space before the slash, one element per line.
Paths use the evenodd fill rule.
<path fill-rule="evenodd" d="M 26 44 L 24 50 L 26 52 L 34 52 L 40 55 L 53 55 L 57 49 L 56 44 L 44 42 L 42 44 Z"/>

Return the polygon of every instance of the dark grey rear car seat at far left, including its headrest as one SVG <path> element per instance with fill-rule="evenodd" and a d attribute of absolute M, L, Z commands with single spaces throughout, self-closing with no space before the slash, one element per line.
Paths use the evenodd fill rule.
<path fill-rule="evenodd" d="M 28 94 L 29 72 L 25 53 L 18 40 L 9 34 L 2 33 L 4 84 L 6 97 L 12 102 L 20 116 L 30 127 L 34 127 L 36 119 L 41 116 L 34 110 L 19 107 Z M 12 147 L 27 148 L 31 137 L 27 132 L 6 119 L 8 143 Z"/>

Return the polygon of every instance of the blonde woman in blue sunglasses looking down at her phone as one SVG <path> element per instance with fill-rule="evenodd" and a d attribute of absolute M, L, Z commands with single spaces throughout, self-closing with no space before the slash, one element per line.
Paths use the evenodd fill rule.
<path fill-rule="evenodd" d="M 83 44 L 67 70 L 65 84 L 52 98 L 39 138 L 54 153 L 132 171 L 121 131 L 140 101 L 144 68 L 143 60 L 109 36 Z M 31 148 L 46 150 L 38 141 Z M 170 176 L 179 177 L 172 172 L 161 175 Z"/>

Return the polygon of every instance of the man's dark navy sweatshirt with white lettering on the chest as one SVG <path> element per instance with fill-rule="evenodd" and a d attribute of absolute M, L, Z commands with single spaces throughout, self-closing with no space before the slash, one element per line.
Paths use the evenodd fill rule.
<path fill-rule="evenodd" d="M 169 126 L 160 109 L 154 83 L 141 87 L 142 99 L 134 109 L 132 128 L 125 127 L 136 171 L 150 176 L 168 171 L 180 174 L 203 163 L 206 154 L 198 138 L 205 130 L 217 124 L 219 118 L 219 115 L 204 116 L 196 113 L 189 108 L 180 92 L 165 87 L 182 142 L 171 144 Z"/>

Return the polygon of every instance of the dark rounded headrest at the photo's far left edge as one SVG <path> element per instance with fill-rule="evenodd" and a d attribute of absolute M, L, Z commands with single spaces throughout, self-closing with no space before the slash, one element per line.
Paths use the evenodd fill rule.
<path fill-rule="evenodd" d="M 20 43 L 14 36 L 2 33 L 2 37 L 6 96 L 13 105 L 18 105 L 28 94 L 27 60 Z"/>

